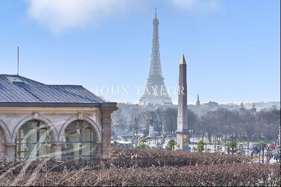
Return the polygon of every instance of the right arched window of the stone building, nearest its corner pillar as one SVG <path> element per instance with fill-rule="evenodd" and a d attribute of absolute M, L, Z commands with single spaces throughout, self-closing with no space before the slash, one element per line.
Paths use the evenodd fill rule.
<path fill-rule="evenodd" d="M 62 159 L 97 158 L 98 144 L 96 132 L 82 120 L 70 123 L 63 132 Z"/>

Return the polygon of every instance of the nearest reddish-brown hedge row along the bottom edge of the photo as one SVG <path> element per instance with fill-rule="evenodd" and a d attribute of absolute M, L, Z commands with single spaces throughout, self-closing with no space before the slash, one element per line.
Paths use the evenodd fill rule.
<path fill-rule="evenodd" d="M 15 180 L 17 179 L 17 181 Z M 15 182 L 16 181 L 16 182 Z M 33 186 L 280 186 L 280 165 L 232 164 L 123 170 L 9 174 L 0 185 Z"/>

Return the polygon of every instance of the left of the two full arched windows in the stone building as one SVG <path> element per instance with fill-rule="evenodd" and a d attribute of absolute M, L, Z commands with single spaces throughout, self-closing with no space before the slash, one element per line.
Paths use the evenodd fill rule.
<path fill-rule="evenodd" d="M 15 158 L 45 158 L 50 156 L 51 146 L 51 135 L 47 126 L 40 121 L 28 121 L 17 131 Z"/>

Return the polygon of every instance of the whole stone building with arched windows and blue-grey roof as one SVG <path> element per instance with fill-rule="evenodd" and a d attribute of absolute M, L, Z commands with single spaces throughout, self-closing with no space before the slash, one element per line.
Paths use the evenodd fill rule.
<path fill-rule="evenodd" d="M 0 161 L 109 158 L 114 110 L 83 86 L 0 75 Z"/>

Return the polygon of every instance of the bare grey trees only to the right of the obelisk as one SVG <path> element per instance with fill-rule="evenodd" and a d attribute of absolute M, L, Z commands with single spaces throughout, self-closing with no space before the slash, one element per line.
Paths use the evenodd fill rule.
<path fill-rule="evenodd" d="M 279 134 L 280 109 L 273 106 L 256 113 L 250 110 L 239 112 L 220 108 L 208 111 L 192 123 L 193 133 L 213 134 L 215 137 L 240 139 L 243 141 L 258 141 L 261 139 L 275 140 Z"/>

